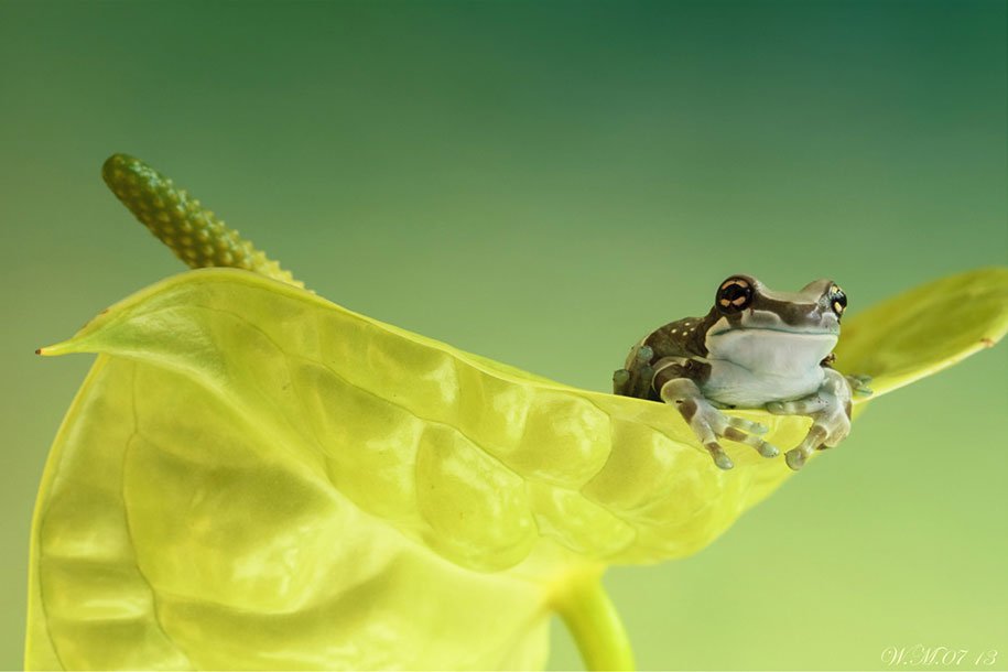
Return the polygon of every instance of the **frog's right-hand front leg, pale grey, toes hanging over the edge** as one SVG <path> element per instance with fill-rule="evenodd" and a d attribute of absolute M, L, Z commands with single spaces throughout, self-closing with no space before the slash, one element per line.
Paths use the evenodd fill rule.
<path fill-rule="evenodd" d="M 767 404 L 767 410 L 778 415 L 808 415 L 812 419 L 805 438 L 784 455 L 788 466 L 795 472 L 804 466 L 812 451 L 832 448 L 850 432 L 852 384 L 843 373 L 828 367 L 823 367 L 823 384 L 814 394 Z"/>

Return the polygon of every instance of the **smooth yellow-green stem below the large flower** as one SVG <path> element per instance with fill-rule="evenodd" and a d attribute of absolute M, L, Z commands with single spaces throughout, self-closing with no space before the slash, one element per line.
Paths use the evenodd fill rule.
<path fill-rule="evenodd" d="M 553 606 L 588 670 L 633 670 L 627 630 L 601 585 L 600 574 L 573 578 L 557 593 Z"/>

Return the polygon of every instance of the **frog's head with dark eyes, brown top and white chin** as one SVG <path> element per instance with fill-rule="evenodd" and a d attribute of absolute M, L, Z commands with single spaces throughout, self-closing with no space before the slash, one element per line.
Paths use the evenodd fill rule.
<path fill-rule="evenodd" d="M 776 292 L 748 275 L 731 275 L 717 288 L 707 316 L 711 357 L 750 370 L 819 366 L 839 337 L 847 296 L 832 280 L 815 280 L 798 292 Z"/>

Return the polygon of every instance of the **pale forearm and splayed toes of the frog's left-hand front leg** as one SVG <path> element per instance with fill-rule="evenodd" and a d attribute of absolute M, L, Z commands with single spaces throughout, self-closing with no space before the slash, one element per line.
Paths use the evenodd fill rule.
<path fill-rule="evenodd" d="M 743 418 L 725 415 L 708 402 L 696 383 L 689 378 L 676 378 L 668 381 L 661 388 L 661 398 L 666 403 L 675 405 L 690 429 L 696 434 L 700 442 L 707 448 L 711 457 L 722 469 L 735 466 L 728 454 L 722 447 L 718 438 L 727 438 L 744 443 L 756 448 L 763 457 L 777 457 L 780 451 L 757 436 L 766 434 L 767 427 L 758 422 Z"/>

